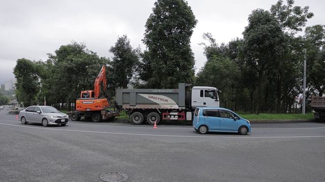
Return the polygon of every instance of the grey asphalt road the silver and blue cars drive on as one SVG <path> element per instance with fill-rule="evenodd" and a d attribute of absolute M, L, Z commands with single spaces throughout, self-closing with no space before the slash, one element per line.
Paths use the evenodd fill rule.
<path fill-rule="evenodd" d="M 253 124 L 252 133 L 190 126 L 23 125 L 0 111 L 0 181 L 325 181 L 325 123 Z"/>

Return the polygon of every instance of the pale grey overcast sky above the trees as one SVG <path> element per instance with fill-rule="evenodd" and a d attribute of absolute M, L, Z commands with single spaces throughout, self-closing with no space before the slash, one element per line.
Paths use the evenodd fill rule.
<path fill-rule="evenodd" d="M 118 36 L 126 34 L 134 48 L 145 50 L 141 39 L 155 0 L 78 0 L 78 1 L 7 1 L 0 0 L 0 84 L 14 78 L 16 60 L 47 60 L 60 45 L 72 40 L 84 42 L 101 57 Z M 242 37 L 248 15 L 257 8 L 269 10 L 276 0 L 188 0 L 198 24 L 191 37 L 191 48 L 198 71 L 206 62 L 203 55 L 204 32 L 212 33 L 220 44 Z M 325 1 L 299 0 L 296 6 L 309 6 L 314 17 L 307 26 L 325 24 Z"/>

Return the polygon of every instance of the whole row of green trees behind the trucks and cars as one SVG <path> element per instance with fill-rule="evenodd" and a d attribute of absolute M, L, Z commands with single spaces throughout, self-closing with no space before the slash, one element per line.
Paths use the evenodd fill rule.
<path fill-rule="evenodd" d="M 190 37 L 197 20 L 187 2 L 158 0 L 145 25 L 146 50 L 132 48 L 126 35 L 109 49 L 113 58 L 99 57 L 83 43 L 62 45 L 48 60 L 18 59 L 14 69 L 16 95 L 25 106 L 43 104 L 71 110 L 81 90 L 93 89 L 101 65 L 107 66 L 108 90 L 115 88 L 177 88 L 178 82 L 215 86 L 221 106 L 245 112 L 286 112 L 302 93 L 304 49 L 307 50 L 307 98 L 325 90 L 324 27 L 307 27 L 313 16 L 294 1 L 278 1 L 269 11 L 248 16 L 243 38 L 217 44 L 211 33 L 202 43 L 207 62 L 194 74 Z M 224 27 L 225 28 L 225 27 Z M 220 35 L 218 35 L 220 36 Z"/>

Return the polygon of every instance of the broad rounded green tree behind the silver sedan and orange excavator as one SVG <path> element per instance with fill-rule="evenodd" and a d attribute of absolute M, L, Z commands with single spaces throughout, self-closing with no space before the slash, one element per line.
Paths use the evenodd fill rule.
<path fill-rule="evenodd" d="M 48 104 L 56 107 L 59 107 L 59 103 L 67 103 L 69 110 L 81 90 L 94 88 L 94 80 L 102 65 L 109 63 L 108 59 L 100 58 L 77 42 L 61 45 L 55 55 L 48 55 L 48 74 L 42 80 L 42 97 L 46 96 Z"/>

